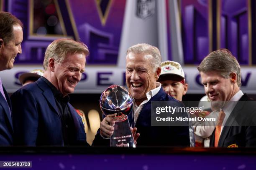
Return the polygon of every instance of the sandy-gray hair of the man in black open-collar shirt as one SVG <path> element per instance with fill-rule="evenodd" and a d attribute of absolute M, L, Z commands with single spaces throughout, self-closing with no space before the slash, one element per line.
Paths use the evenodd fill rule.
<path fill-rule="evenodd" d="M 54 58 L 54 62 L 61 63 L 69 54 L 83 53 L 85 57 L 89 55 L 88 47 L 82 43 L 71 39 L 58 39 L 48 45 L 44 55 L 44 70 L 49 65 L 49 59 Z"/>

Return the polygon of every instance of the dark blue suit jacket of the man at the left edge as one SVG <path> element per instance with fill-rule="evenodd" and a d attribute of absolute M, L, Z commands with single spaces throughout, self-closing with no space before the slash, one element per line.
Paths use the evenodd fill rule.
<path fill-rule="evenodd" d="M 13 122 L 10 111 L 12 110 L 10 98 L 3 87 L 5 98 L 0 92 L 0 145 L 13 145 Z M 9 109 L 10 108 L 10 109 Z"/>

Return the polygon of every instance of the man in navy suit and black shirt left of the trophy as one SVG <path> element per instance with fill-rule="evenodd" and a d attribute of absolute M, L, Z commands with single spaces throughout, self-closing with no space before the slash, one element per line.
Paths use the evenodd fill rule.
<path fill-rule="evenodd" d="M 88 55 L 86 45 L 70 39 L 47 47 L 44 75 L 11 96 L 15 145 L 88 145 L 82 119 L 68 95 L 81 80 Z"/>

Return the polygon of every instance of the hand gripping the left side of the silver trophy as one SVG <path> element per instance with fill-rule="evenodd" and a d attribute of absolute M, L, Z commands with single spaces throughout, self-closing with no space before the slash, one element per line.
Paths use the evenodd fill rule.
<path fill-rule="evenodd" d="M 110 136 L 114 132 L 114 125 L 115 125 L 115 120 L 112 117 L 115 117 L 115 114 L 112 115 L 107 115 L 102 122 L 100 122 L 100 134 L 104 138 L 110 138 Z"/>

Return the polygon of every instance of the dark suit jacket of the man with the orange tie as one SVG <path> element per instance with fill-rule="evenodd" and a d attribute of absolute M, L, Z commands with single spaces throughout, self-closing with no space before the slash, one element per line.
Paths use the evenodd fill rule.
<path fill-rule="evenodd" d="M 253 104 L 254 103 L 254 104 Z M 256 147 L 256 101 L 244 94 L 235 106 L 220 135 L 218 147 Z M 215 130 L 210 139 L 214 147 Z"/>

